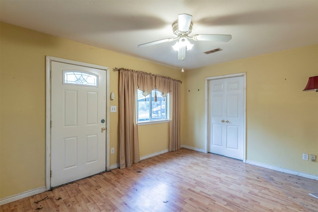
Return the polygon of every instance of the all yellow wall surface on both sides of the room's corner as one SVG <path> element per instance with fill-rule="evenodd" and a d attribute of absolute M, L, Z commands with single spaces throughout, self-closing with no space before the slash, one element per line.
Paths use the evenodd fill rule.
<path fill-rule="evenodd" d="M 216 53 L 217 54 L 217 53 Z M 0 23 L 0 199 L 45 186 L 45 56 L 161 74 L 181 85 L 181 142 L 205 149 L 205 78 L 247 73 L 247 160 L 318 175 L 318 45 L 180 70 Z M 213 55 L 212 55 L 213 57 Z M 189 92 L 190 91 L 190 92 Z M 118 106 L 118 73 L 110 71 Z M 158 133 L 160 132 L 160 133 Z M 156 134 L 156 136 L 153 136 Z M 141 157 L 168 148 L 168 123 L 139 127 Z M 118 113 L 110 113 L 110 165 L 119 163 Z"/>

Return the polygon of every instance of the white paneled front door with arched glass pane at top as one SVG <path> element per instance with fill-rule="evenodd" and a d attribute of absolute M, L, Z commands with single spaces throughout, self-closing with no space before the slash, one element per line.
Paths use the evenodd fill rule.
<path fill-rule="evenodd" d="M 51 187 L 106 170 L 106 72 L 51 62 Z"/>

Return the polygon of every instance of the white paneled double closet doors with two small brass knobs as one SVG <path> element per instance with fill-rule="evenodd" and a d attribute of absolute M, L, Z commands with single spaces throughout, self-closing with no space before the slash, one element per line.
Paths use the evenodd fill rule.
<path fill-rule="evenodd" d="M 209 81 L 209 152 L 243 160 L 243 77 Z"/>

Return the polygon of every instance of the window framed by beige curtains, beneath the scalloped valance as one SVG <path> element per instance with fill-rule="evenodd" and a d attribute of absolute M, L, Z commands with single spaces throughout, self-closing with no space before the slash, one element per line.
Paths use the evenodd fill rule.
<path fill-rule="evenodd" d="M 137 120 L 140 122 L 168 120 L 167 97 L 162 97 L 161 92 L 153 90 L 148 96 L 138 89 L 137 93 Z M 157 101 L 156 101 L 157 99 Z"/>

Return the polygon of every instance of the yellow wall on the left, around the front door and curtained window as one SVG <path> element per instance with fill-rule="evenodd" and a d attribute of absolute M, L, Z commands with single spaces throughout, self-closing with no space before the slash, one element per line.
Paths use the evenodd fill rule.
<path fill-rule="evenodd" d="M 114 67 L 183 78 L 177 69 L 3 22 L 0 45 L 0 199 L 45 186 L 45 56 L 109 67 L 112 106 L 118 106 Z M 141 126 L 141 156 L 168 149 L 167 130 L 167 123 Z M 110 113 L 110 147 L 110 165 L 116 165 L 118 113 Z"/>

